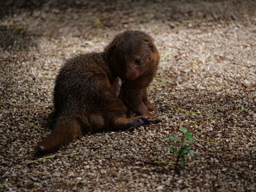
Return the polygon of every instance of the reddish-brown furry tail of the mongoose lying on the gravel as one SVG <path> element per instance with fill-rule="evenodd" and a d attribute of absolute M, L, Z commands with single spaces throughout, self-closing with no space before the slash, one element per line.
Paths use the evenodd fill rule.
<path fill-rule="evenodd" d="M 80 123 L 75 118 L 64 120 L 57 120 L 56 126 L 49 136 L 42 140 L 36 147 L 36 155 L 43 155 L 45 153 L 57 150 L 61 145 L 72 142 L 82 134 Z"/>

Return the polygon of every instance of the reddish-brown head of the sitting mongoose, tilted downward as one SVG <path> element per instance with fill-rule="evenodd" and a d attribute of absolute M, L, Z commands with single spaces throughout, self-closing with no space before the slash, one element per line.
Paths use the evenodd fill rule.
<path fill-rule="evenodd" d="M 105 47 L 110 68 L 122 80 L 136 80 L 159 63 L 153 39 L 142 31 L 124 31 Z"/>

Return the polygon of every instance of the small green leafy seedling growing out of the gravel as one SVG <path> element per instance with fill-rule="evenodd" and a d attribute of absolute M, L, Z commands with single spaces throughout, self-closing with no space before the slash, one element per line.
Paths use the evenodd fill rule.
<path fill-rule="evenodd" d="M 177 150 L 176 148 L 174 148 L 173 146 L 169 146 L 170 150 L 172 150 L 177 158 L 176 158 L 176 166 L 175 166 L 175 170 L 176 172 L 178 172 L 178 164 L 180 168 L 184 168 L 185 166 L 185 158 L 187 156 L 187 153 L 189 153 L 190 156 L 194 156 L 194 153 L 192 152 L 192 150 L 190 150 L 190 146 L 189 145 L 185 145 L 186 140 L 188 140 L 189 142 L 193 141 L 193 137 L 191 134 L 189 134 L 190 130 L 185 130 L 183 126 L 180 126 L 179 129 L 181 130 L 181 132 L 184 134 L 184 137 L 182 138 L 182 140 L 170 136 L 169 138 L 173 141 L 176 142 L 180 142 L 181 143 L 181 148 L 180 150 Z"/>

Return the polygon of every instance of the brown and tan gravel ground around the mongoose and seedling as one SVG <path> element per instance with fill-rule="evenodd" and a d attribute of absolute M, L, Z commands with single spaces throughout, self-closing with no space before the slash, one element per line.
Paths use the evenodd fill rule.
<path fill-rule="evenodd" d="M 0 6 L 0 191 L 256 191 L 256 1 L 29 2 Z M 127 29 L 161 54 L 149 94 L 162 123 L 35 158 L 61 65 Z M 178 126 L 197 139 L 180 174 Z"/>

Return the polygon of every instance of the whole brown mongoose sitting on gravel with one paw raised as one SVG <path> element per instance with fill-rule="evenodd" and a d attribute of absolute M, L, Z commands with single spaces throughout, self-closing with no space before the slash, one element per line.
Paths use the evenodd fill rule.
<path fill-rule="evenodd" d="M 157 72 L 159 54 L 153 39 L 141 31 L 118 34 L 102 53 L 69 59 L 53 93 L 56 123 L 37 145 L 37 155 L 53 152 L 83 132 L 125 130 L 158 123 L 147 88 Z M 130 117 L 129 110 L 138 116 Z"/>

